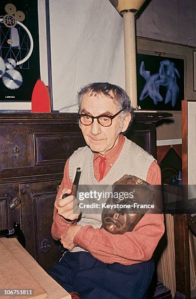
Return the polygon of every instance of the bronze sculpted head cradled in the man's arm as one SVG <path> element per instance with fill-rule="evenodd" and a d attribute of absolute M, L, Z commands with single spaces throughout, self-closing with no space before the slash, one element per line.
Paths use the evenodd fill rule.
<path fill-rule="evenodd" d="M 132 187 L 126 188 L 126 186 L 132 185 Z M 135 187 L 134 187 L 135 186 Z M 138 188 L 141 186 L 140 188 Z M 123 177 L 113 184 L 113 194 L 115 192 L 133 192 L 133 198 L 127 199 L 115 199 L 108 198 L 106 204 L 148 204 L 151 203 L 154 197 L 151 185 L 133 175 L 123 175 Z M 145 211 L 147 212 L 147 210 Z M 102 227 L 111 234 L 124 234 L 131 232 L 136 224 L 144 214 L 134 213 L 134 209 L 103 209 L 101 214 Z"/>

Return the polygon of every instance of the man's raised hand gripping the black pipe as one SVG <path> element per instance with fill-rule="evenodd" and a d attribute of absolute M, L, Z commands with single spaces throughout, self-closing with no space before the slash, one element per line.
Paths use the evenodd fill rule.
<path fill-rule="evenodd" d="M 70 194 L 71 192 L 72 191 L 70 189 L 63 189 L 60 198 L 55 201 L 54 206 L 59 215 L 63 216 L 65 219 L 75 220 L 80 214 L 77 198 L 75 198 L 73 195 L 62 198 L 63 194 Z"/>

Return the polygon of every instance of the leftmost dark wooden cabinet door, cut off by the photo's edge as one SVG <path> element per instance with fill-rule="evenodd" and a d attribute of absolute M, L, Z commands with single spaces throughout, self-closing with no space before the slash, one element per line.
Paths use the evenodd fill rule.
<path fill-rule="evenodd" d="M 21 222 L 21 205 L 18 184 L 0 184 L 0 230 Z"/>

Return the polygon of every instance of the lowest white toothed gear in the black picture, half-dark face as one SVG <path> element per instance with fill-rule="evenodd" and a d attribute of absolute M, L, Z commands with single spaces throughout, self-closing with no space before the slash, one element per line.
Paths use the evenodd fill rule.
<path fill-rule="evenodd" d="M 3 84 L 9 89 L 17 89 L 23 83 L 23 77 L 16 69 L 6 71 L 2 76 Z"/>

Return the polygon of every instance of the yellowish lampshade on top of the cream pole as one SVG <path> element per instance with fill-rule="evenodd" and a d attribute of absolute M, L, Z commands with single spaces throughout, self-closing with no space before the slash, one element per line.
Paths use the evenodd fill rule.
<path fill-rule="evenodd" d="M 109 0 L 120 14 L 129 11 L 138 11 L 146 0 Z"/>

